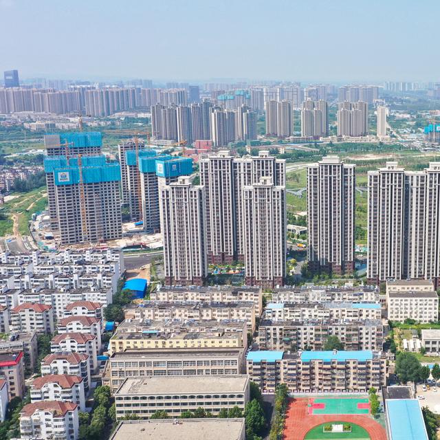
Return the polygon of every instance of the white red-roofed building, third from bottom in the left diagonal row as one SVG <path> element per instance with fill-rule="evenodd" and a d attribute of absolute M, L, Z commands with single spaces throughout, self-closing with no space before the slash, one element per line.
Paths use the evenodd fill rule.
<path fill-rule="evenodd" d="M 89 393 L 89 355 L 85 353 L 72 353 L 72 351 L 57 351 L 47 355 L 41 361 L 41 375 L 60 374 L 83 377 L 85 394 Z"/>

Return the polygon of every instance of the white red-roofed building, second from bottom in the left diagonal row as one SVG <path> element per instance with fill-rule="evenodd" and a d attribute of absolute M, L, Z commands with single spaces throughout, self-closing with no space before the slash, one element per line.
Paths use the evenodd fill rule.
<path fill-rule="evenodd" d="M 80 376 L 50 374 L 37 377 L 30 388 L 30 401 L 72 401 L 85 411 L 84 379 Z"/>

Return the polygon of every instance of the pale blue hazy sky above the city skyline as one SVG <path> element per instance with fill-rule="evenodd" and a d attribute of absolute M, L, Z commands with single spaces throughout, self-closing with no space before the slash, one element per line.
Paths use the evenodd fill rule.
<path fill-rule="evenodd" d="M 437 80 L 438 0 L 0 0 L 0 71 Z"/>

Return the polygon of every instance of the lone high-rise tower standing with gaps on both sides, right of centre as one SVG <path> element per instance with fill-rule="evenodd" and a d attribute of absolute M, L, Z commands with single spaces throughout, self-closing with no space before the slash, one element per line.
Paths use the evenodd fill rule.
<path fill-rule="evenodd" d="M 338 156 L 307 166 L 307 259 L 311 270 L 353 272 L 355 166 Z"/>

